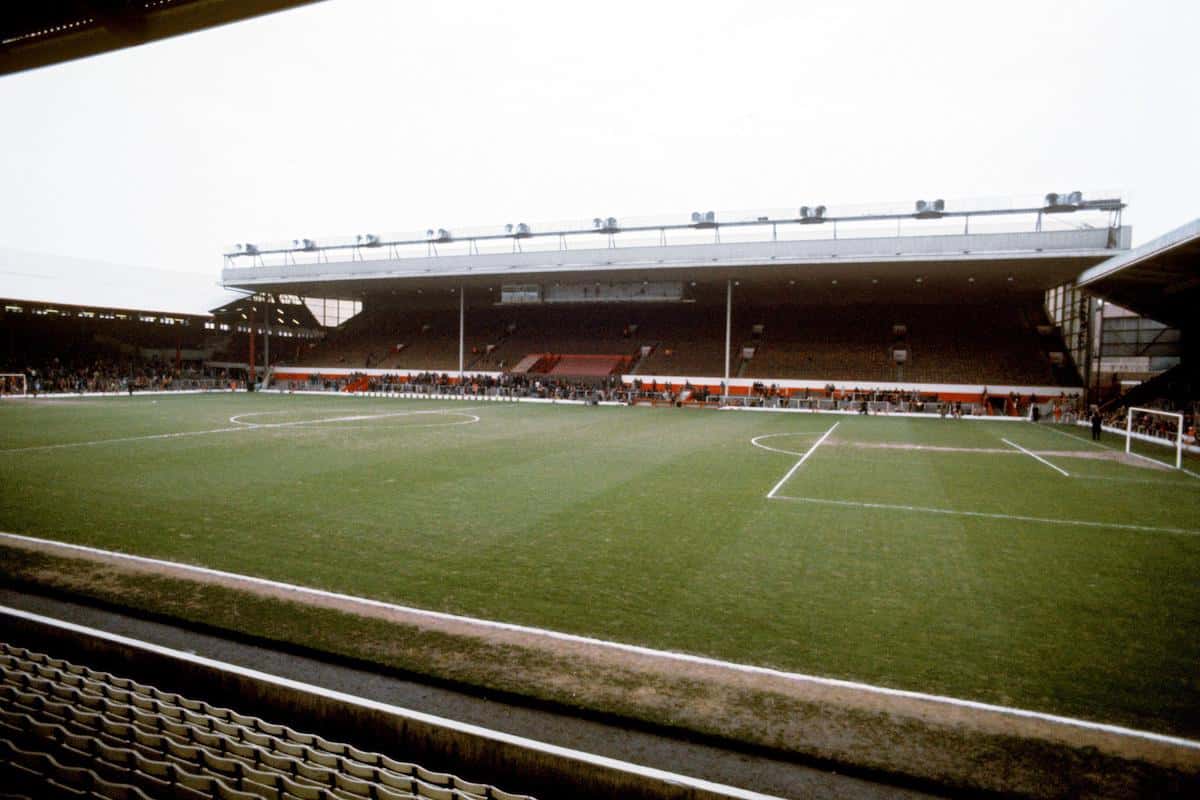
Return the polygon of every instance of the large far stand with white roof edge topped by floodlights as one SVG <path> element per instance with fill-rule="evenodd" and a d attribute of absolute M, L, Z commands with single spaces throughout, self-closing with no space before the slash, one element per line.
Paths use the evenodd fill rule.
<path fill-rule="evenodd" d="M 1094 308 L 1076 282 L 1129 251 L 1123 209 L 1072 192 L 430 228 L 236 245 L 222 281 L 266 303 L 362 303 L 328 345 L 276 363 L 282 379 L 516 367 L 730 395 L 769 385 L 1079 397 L 1094 383 Z M 836 363 L 822 366 L 820 350 Z M 612 360 L 572 357 L 599 355 Z"/>

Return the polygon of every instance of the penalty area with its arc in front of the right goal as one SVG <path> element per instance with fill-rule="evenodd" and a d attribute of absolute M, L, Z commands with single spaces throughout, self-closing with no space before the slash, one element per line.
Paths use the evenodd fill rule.
<path fill-rule="evenodd" d="M 924 516 L 1021 528 L 1200 534 L 1184 511 L 1200 499 L 1200 482 L 1178 473 L 1139 468 L 1120 451 L 1055 428 L 944 425 L 961 431 L 961 444 L 952 444 L 958 432 L 937 428 L 911 441 L 856 437 L 850 420 L 790 434 L 792 439 L 758 438 L 763 457 L 781 462 L 780 477 L 766 497 L 810 510 L 841 510 L 838 517 L 847 525 L 860 513 L 889 513 L 898 528 L 919 524 Z"/>

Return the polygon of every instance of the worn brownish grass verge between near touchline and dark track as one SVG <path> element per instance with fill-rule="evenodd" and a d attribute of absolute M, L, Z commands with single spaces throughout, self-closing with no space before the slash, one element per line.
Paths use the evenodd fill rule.
<path fill-rule="evenodd" d="M 463 636 L 86 558 L 0 547 L 0 579 L 328 652 L 476 691 L 624 718 L 956 789 L 1031 796 L 1145 796 L 1200 789 L 1194 754 L 1103 736 L 1036 735 L 972 718 L 773 681 L 598 657 L 580 648 Z"/>

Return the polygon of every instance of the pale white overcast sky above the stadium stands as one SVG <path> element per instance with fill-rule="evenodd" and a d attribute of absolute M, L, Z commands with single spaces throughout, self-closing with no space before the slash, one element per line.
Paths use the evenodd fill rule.
<path fill-rule="evenodd" d="M 1200 216 L 1193 0 L 329 0 L 0 78 L 0 246 L 1120 190 Z"/>

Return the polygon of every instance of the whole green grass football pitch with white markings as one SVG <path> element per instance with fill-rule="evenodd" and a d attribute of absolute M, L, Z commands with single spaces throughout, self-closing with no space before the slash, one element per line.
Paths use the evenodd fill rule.
<path fill-rule="evenodd" d="M 1198 736 L 1200 468 L 1122 446 L 953 419 L 12 401 L 0 530 Z"/>

